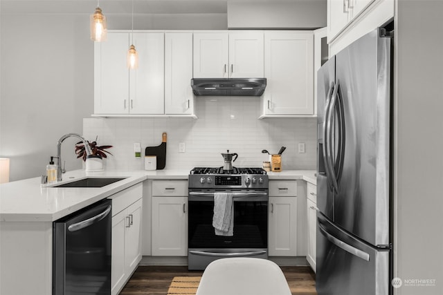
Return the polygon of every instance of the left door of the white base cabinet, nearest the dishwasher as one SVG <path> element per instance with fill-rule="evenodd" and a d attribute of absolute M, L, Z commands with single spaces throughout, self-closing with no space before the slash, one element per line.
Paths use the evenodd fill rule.
<path fill-rule="evenodd" d="M 126 210 L 112 218 L 111 247 L 111 294 L 118 294 L 126 276 L 125 231 L 127 228 Z"/>

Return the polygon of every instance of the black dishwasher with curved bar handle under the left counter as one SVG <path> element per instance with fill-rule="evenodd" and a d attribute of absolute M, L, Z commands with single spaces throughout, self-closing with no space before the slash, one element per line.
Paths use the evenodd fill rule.
<path fill-rule="evenodd" d="M 53 295 L 111 294 L 111 200 L 53 222 Z"/>

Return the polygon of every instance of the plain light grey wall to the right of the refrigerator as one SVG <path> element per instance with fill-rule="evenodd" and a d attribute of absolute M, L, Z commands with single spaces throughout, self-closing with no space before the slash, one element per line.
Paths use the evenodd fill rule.
<path fill-rule="evenodd" d="M 443 1 L 396 3 L 395 291 L 443 294 Z"/>

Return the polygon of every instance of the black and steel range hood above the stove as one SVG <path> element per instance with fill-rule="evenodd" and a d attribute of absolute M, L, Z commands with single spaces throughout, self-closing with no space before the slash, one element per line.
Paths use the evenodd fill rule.
<path fill-rule="evenodd" d="M 266 88 L 266 78 L 195 78 L 191 86 L 195 95 L 260 96 Z"/>

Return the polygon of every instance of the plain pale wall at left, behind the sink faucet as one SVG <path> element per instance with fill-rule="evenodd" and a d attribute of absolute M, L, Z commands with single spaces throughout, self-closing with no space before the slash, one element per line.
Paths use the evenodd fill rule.
<path fill-rule="evenodd" d="M 0 156 L 10 180 L 46 173 L 57 140 L 82 133 L 93 113 L 93 44 L 89 17 L 1 13 Z M 66 140 L 66 169 L 78 169 Z"/>

